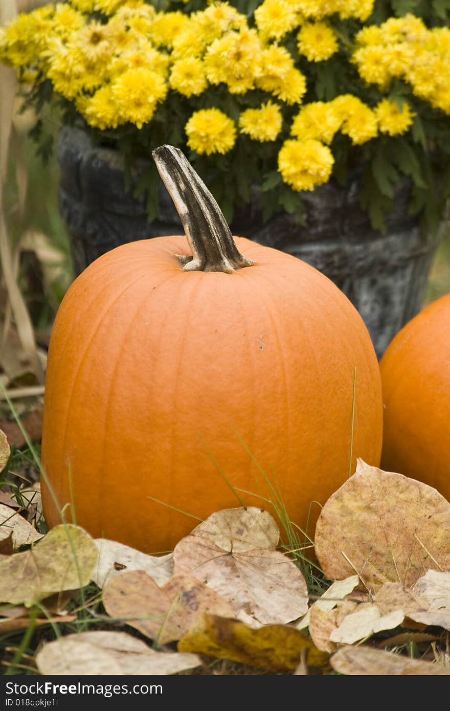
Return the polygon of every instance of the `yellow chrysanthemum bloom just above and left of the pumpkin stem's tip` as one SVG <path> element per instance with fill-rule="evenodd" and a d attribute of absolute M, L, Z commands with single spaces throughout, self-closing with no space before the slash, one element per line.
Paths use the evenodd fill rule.
<path fill-rule="evenodd" d="M 166 93 L 161 75 L 144 67 L 129 69 L 112 82 L 112 95 L 122 121 L 136 124 L 138 129 L 151 120 Z"/>

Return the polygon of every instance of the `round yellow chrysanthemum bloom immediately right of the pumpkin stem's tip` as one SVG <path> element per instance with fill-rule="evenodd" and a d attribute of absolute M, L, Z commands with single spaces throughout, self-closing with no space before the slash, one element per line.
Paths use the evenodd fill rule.
<path fill-rule="evenodd" d="M 186 124 L 191 150 L 210 156 L 227 153 L 235 145 L 235 123 L 219 109 L 201 109 L 192 114 Z"/>

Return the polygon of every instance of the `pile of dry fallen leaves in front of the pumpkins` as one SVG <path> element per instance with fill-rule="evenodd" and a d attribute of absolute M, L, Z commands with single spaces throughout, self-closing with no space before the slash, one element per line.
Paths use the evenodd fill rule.
<path fill-rule="evenodd" d="M 69 625 L 80 609 L 114 629 L 40 643 L 36 673 L 166 675 L 215 658 L 259 673 L 450 675 L 450 503 L 422 483 L 358 462 L 318 519 L 320 597 L 259 508 L 218 511 L 156 557 L 76 525 L 42 535 L 38 487 L 20 496 L 0 500 L 0 634 Z M 97 606 L 76 607 L 90 582 Z"/>

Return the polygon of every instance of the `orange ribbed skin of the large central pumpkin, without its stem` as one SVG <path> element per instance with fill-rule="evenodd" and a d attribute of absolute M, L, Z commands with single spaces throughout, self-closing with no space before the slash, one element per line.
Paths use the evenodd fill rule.
<path fill-rule="evenodd" d="M 267 494 L 257 464 L 306 525 L 355 459 L 380 461 L 380 372 L 350 301 L 295 257 L 236 238 L 257 264 L 184 272 L 186 237 L 132 242 L 63 299 L 48 355 L 43 466 L 93 536 L 171 550 L 205 518 Z M 213 461 L 214 460 L 214 461 Z M 70 477 L 69 477 L 70 471 Z M 266 506 L 241 494 L 245 503 Z M 45 519 L 60 515 L 43 485 Z M 319 508 L 312 506 L 314 530 Z"/>

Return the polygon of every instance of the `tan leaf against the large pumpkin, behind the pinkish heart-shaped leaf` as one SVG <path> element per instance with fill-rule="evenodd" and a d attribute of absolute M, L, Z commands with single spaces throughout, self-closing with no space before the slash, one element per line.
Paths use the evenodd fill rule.
<path fill-rule="evenodd" d="M 191 535 L 210 540 L 226 552 L 275 550 L 279 529 L 272 516 L 262 508 L 225 508 L 212 513 L 194 528 Z"/>

